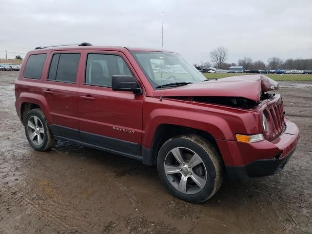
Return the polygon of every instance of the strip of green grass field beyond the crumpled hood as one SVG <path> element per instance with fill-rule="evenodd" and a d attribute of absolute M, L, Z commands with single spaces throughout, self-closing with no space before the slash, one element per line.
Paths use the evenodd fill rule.
<path fill-rule="evenodd" d="M 203 73 L 206 78 L 225 78 L 225 77 L 233 77 L 233 76 L 243 76 L 243 75 L 256 75 L 256 74 L 246 74 L 246 73 Z M 258 75 L 258 74 L 257 74 Z M 263 74 L 267 77 L 270 77 L 274 80 L 295 80 L 295 81 L 312 81 L 312 75 L 305 74 Z"/>

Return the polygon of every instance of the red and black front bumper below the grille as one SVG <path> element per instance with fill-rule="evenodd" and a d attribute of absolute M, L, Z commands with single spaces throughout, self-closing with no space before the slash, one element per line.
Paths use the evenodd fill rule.
<path fill-rule="evenodd" d="M 285 124 L 285 131 L 272 142 L 263 140 L 248 144 L 217 141 L 220 143 L 221 154 L 225 154 L 222 156 L 225 156 L 224 162 L 229 178 L 245 181 L 254 177 L 271 176 L 283 170 L 299 139 L 298 127 L 286 118 Z M 225 147 L 221 150 L 220 146 Z"/>

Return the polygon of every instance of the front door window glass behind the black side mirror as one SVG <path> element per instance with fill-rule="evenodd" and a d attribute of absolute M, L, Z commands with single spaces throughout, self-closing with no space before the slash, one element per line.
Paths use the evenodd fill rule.
<path fill-rule="evenodd" d="M 112 86 L 112 76 L 132 73 L 125 61 L 117 55 L 88 54 L 85 84 Z"/>

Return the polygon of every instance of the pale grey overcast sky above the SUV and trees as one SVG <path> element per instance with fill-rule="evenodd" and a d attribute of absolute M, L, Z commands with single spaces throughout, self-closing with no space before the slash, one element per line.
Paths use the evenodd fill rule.
<path fill-rule="evenodd" d="M 218 46 L 227 62 L 244 56 L 312 58 L 312 0 L 1 0 L 0 58 L 40 45 L 161 48 L 190 62 Z M 12 58 L 13 54 L 10 54 Z M 24 54 L 21 55 L 22 57 Z"/>

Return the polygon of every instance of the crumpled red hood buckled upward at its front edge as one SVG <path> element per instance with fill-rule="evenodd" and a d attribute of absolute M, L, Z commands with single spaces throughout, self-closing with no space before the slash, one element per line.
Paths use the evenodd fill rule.
<path fill-rule="evenodd" d="M 277 90 L 276 81 L 264 75 L 247 75 L 194 83 L 163 90 L 163 97 L 193 102 L 226 105 L 235 108 L 253 109 L 263 100 L 273 99 Z"/>

